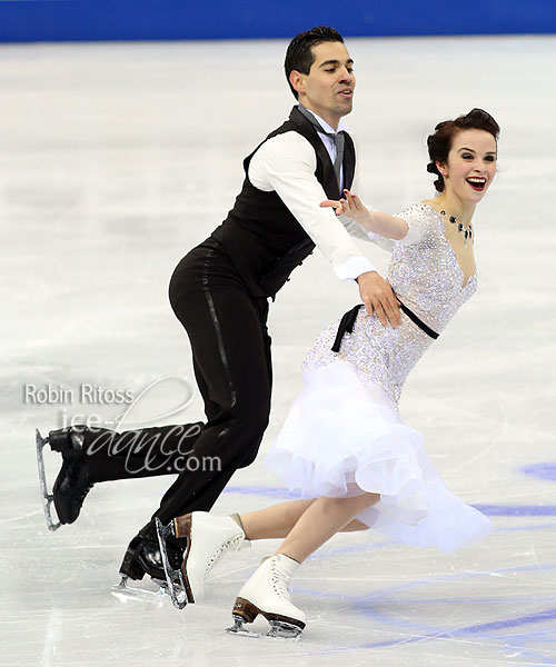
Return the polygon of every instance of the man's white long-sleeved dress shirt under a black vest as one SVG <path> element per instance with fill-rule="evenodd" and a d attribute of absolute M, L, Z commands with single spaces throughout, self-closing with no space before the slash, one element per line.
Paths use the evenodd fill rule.
<path fill-rule="evenodd" d="M 321 118 L 314 115 L 326 131 L 335 132 Z M 338 126 L 338 131 L 346 126 Z M 330 137 L 318 132 L 334 165 L 336 146 Z M 265 141 L 249 165 L 250 182 L 264 192 L 276 191 L 299 225 L 309 235 L 315 246 L 331 263 L 341 280 L 356 279 L 367 271 L 376 271 L 373 262 L 361 255 L 350 238 L 357 236 L 369 240 L 365 230 L 331 208 L 320 208 L 328 199 L 322 186 L 315 177 L 317 156 L 312 146 L 299 132 L 285 132 Z M 342 178 L 342 175 L 341 175 Z M 358 189 L 357 159 L 354 175 L 354 191 Z"/>

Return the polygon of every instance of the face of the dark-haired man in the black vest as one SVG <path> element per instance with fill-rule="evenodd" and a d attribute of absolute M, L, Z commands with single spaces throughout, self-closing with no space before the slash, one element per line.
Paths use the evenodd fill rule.
<path fill-rule="evenodd" d="M 322 42 L 311 51 L 315 62 L 309 73 L 294 71 L 290 80 L 301 104 L 336 129 L 354 104 L 354 61 L 341 42 Z"/>

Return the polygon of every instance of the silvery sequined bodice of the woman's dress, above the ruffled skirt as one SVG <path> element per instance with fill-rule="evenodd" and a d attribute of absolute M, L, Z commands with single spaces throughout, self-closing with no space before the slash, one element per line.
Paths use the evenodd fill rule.
<path fill-rule="evenodd" d="M 439 215 L 425 203 L 399 213 L 409 231 L 394 243 L 388 280 L 396 295 L 433 330 L 440 332 L 457 309 L 477 288 L 471 276 L 463 285 L 463 272 L 444 232 Z M 397 406 L 401 387 L 418 359 L 433 342 L 405 313 L 397 328 L 385 327 L 376 316 L 360 309 L 353 334 L 344 336 L 340 351 L 331 346 L 339 320 L 325 329 L 309 350 L 304 370 L 336 360 L 349 362 L 364 382 L 383 387 Z"/>

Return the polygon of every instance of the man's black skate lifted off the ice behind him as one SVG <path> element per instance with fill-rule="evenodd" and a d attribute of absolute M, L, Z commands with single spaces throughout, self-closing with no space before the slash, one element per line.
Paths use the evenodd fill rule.
<path fill-rule="evenodd" d="M 43 438 L 37 429 L 37 462 L 42 491 L 44 517 L 50 530 L 57 530 L 62 524 L 72 524 L 79 516 L 85 497 L 91 490 L 93 480 L 83 452 L 86 426 L 70 426 L 50 431 Z M 47 476 L 42 449 L 50 445 L 52 451 L 62 455 L 62 467 L 56 478 L 52 494 L 48 492 Z M 58 522 L 52 520 L 51 506 L 54 504 Z"/>

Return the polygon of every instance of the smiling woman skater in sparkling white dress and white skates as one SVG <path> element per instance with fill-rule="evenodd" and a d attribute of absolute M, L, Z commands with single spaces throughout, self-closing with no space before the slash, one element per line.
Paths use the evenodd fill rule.
<path fill-rule="evenodd" d="M 374 527 L 387 537 L 449 551 L 490 531 L 490 521 L 455 497 L 401 421 L 398 400 L 413 366 L 475 291 L 471 218 L 496 175 L 499 128 L 473 109 L 428 138 L 437 196 L 398 216 L 365 208 L 345 191 L 324 201 L 369 233 L 394 239 L 388 280 L 403 310 L 383 326 L 358 306 L 318 337 L 304 364 L 305 389 L 291 406 L 266 466 L 302 499 L 234 517 L 192 512 L 173 521 L 187 537 L 182 575 L 188 601 L 220 554 L 254 539 L 285 538 L 239 591 L 234 630 L 258 614 L 271 634 L 297 636 L 305 614 L 290 599 L 299 565 L 338 531 Z"/>

